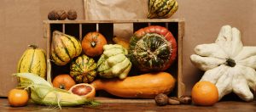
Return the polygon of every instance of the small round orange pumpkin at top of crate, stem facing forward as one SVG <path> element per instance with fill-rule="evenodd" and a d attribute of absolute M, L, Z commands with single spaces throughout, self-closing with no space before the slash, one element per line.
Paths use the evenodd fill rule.
<path fill-rule="evenodd" d="M 107 44 L 105 36 L 99 32 L 87 33 L 82 41 L 83 52 L 90 57 L 96 57 L 103 53 L 103 46 Z"/>

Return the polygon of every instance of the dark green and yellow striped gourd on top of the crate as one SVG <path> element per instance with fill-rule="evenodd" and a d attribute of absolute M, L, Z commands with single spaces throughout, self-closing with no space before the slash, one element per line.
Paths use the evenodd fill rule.
<path fill-rule="evenodd" d="M 148 19 L 167 19 L 177 11 L 176 0 L 148 0 Z"/>

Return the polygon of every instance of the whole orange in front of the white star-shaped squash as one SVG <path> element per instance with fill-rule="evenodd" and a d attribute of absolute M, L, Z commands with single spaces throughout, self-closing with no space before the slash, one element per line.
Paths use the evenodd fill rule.
<path fill-rule="evenodd" d="M 192 88 L 191 96 L 194 104 L 211 106 L 218 102 L 218 88 L 210 81 L 199 81 Z"/>

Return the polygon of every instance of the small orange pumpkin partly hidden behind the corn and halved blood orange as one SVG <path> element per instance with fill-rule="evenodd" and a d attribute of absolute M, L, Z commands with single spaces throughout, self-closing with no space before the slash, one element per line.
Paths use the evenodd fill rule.
<path fill-rule="evenodd" d="M 62 74 L 55 77 L 52 81 L 54 87 L 69 90 L 70 87 L 73 87 L 76 82 L 70 75 Z"/>

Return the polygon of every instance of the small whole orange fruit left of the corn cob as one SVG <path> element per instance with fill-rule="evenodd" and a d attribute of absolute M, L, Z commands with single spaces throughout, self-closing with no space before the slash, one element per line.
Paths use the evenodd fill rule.
<path fill-rule="evenodd" d="M 8 101 L 11 106 L 25 106 L 28 101 L 28 93 L 24 89 L 12 89 L 8 94 Z"/>

